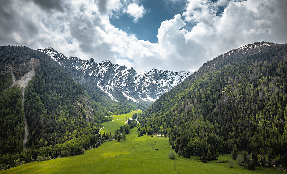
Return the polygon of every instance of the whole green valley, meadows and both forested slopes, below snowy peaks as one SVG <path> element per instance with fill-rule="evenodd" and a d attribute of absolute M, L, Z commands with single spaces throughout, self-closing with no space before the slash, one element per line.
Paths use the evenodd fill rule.
<path fill-rule="evenodd" d="M 286 170 L 286 44 L 256 42 L 226 52 L 153 103 L 107 93 L 62 61 L 63 54 L 0 48 L 4 173 Z M 30 69 L 31 58 L 38 62 Z"/>

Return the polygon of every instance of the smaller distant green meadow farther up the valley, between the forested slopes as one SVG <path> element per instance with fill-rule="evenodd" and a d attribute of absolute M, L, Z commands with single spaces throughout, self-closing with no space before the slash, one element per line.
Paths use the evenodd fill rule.
<path fill-rule="evenodd" d="M 132 118 L 133 114 L 135 113 L 141 113 L 142 110 L 134 110 L 132 112 L 129 112 L 127 114 L 119 114 L 119 115 L 114 115 L 113 118 L 114 120 L 111 122 L 104 122 L 102 123 L 102 125 L 104 126 L 104 128 L 102 128 L 102 130 L 100 131 L 101 134 L 103 134 L 104 132 L 112 132 L 112 134 L 114 134 L 116 129 L 119 129 L 121 126 L 125 125 L 125 118 L 127 117 L 127 119 Z M 112 116 L 110 116 L 112 117 Z"/>

